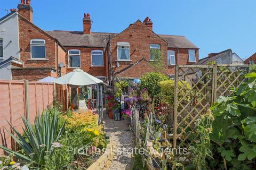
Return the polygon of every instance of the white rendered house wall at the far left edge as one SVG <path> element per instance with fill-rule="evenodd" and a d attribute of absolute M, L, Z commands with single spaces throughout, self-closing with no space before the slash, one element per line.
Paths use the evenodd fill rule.
<path fill-rule="evenodd" d="M 14 13 L 0 21 L 0 38 L 3 38 L 4 60 L 7 60 L 11 56 L 19 60 L 18 13 Z"/>

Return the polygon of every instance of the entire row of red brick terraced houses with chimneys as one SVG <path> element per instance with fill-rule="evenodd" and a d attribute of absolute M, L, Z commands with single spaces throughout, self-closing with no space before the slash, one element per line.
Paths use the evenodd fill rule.
<path fill-rule="evenodd" d="M 19 19 L 20 42 L 19 47 L 16 47 L 16 58 L 22 63 L 18 69 L 12 66 L 13 79 L 28 79 L 24 70 L 38 67 L 41 67 L 40 72 L 44 72 L 43 68 L 48 69 L 47 71 L 52 69 L 51 73 L 59 75 L 60 62 L 65 64 L 65 68 L 61 70 L 63 74 L 81 68 L 106 82 L 115 77 L 139 78 L 154 71 L 150 64 L 154 59 L 150 55 L 150 50 L 153 49 L 161 51 L 165 73 L 170 77 L 174 77 L 175 64 L 194 64 L 198 61 L 197 46 L 185 36 L 158 35 L 153 31 L 153 22 L 148 17 L 143 22 L 135 21 L 120 33 L 93 32 L 90 14 L 84 14 L 83 20 L 81 19 L 82 31 L 43 31 L 32 23 L 33 10 L 30 2 L 27 0 L 24 3 L 21 1 L 18 12 L 12 12 Z M 4 59 L 13 57 L 5 53 L 5 50 L 3 54 Z M 17 75 L 16 70 L 21 75 Z M 44 76 L 45 74 L 36 75 Z"/>

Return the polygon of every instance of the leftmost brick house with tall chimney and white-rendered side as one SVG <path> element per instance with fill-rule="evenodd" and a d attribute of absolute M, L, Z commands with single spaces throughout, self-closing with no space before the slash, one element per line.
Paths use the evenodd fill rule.
<path fill-rule="evenodd" d="M 18 29 L 9 30 L 9 21 L 6 18 L 12 18 L 14 15 L 17 16 L 18 25 L 15 26 Z M 18 5 L 18 11 L 12 9 L 9 16 L 5 16 L 4 19 L 7 24 L 1 25 L 0 22 L 1 30 L 6 30 L 0 33 L 0 38 L 4 37 L 1 38 L 4 49 L 2 52 L 3 61 L 0 61 L 1 74 L 10 72 L 11 76 L 9 79 L 11 80 L 26 79 L 37 81 L 47 76 L 58 77 L 61 73 L 66 73 L 66 69 L 59 66 L 61 62 L 63 64 L 66 63 L 65 47 L 59 43 L 58 39 L 52 37 L 33 23 L 33 8 L 29 0 L 27 0 L 26 4 L 25 1 L 21 1 Z M 11 27 L 13 26 L 11 25 Z M 12 39 L 9 39 L 9 35 L 15 31 L 18 31 L 18 40 L 13 42 Z M 10 46 L 10 44 L 15 44 L 15 46 Z M 10 49 L 8 50 L 8 48 Z M 17 55 L 9 53 L 12 50 Z M 15 60 L 10 60 L 10 58 L 15 58 Z M 16 60 L 19 61 L 18 64 Z M 13 61 L 16 61 L 16 63 L 13 64 Z M 6 67 L 1 68 L 3 64 L 9 64 L 8 69 Z"/>

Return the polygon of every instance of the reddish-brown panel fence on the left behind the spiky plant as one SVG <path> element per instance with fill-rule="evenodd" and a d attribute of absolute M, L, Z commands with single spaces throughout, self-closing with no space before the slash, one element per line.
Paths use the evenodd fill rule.
<path fill-rule="evenodd" d="M 15 150 L 15 143 L 7 132 L 12 132 L 8 122 L 22 132 L 22 116 L 33 123 L 38 113 L 53 104 L 54 96 L 66 105 L 65 92 L 65 86 L 59 84 L 54 87 L 53 83 L 0 80 L 0 145 Z"/>

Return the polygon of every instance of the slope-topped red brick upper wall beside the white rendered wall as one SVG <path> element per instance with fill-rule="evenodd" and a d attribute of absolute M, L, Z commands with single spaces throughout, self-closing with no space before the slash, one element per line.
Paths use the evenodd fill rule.
<path fill-rule="evenodd" d="M 46 60 L 31 60 L 30 40 L 44 39 L 46 48 Z M 53 67 L 56 68 L 55 39 L 47 35 L 44 31 L 37 28 L 33 23 L 19 16 L 19 40 L 20 60 L 25 67 Z"/>

